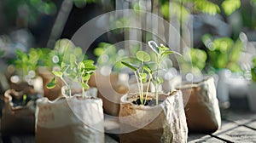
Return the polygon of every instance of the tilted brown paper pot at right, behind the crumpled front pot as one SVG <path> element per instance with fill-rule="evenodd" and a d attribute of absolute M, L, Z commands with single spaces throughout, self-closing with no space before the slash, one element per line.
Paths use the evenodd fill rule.
<path fill-rule="evenodd" d="M 177 89 L 183 92 L 189 132 L 212 133 L 220 128 L 221 116 L 213 77 L 199 83 L 183 83 Z"/>

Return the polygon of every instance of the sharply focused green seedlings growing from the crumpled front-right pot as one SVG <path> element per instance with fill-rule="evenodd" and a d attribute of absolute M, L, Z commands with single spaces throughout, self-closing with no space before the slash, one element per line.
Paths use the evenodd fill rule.
<path fill-rule="evenodd" d="M 140 95 L 140 101 L 143 105 L 145 105 L 146 100 L 144 100 L 144 91 L 143 91 L 143 83 L 147 83 L 147 89 L 146 89 L 146 96 L 147 99 L 148 96 L 148 89 L 149 84 L 153 83 L 154 90 L 155 90 L 155 100 L 156 105 L 158 105 L 158 90 L 160 88 L 160 85 L 163 83 L 162 77 L 159 75 L 160 71 L 160 64 L 162 61 L 166 58 L 169 54 L 178 54 L 177 52 L 174 52 L 164 46 L 163 44 L 160 44 L 160 46 L 157 45 L 154 41 L 148 41 L 148 46 L 150 49 L 154 51 L 154 58 L 153 61 L 150 57 L 150 55 L 144 51 L 137 51 L 136 58 L 140 61 L 140 66 L 135 66 L 132 63 L 127 63 L 125 61 L 122 61 L 122 64 L 129 67 L 135 74 L 135 77 L 137 79 L 137 86 L 139 89 L 139 95 Z M 179 54 L 180 55 L 180 54 Z M 154 64 L 155 66 L 149 66 Z"/>

